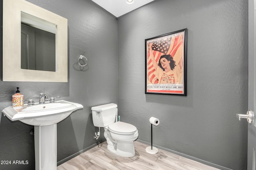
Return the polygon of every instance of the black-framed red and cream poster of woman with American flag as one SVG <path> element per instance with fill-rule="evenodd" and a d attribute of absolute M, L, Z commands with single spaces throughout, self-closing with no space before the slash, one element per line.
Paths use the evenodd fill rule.
<path fill-rule="evenodd" d="M 145 39 L 145 93 L 186 96 L 187 29 Z"/>

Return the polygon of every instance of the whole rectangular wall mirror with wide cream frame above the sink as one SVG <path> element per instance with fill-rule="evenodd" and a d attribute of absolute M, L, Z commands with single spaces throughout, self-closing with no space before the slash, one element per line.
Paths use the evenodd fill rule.
<path fill-rule="evenodd" d="M 3 0 L 3 81 L 68 82 L 67 19 Z"/>

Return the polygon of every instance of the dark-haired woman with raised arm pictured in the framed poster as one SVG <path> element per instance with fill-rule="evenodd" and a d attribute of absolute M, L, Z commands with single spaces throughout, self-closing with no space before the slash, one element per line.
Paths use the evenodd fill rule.
<path fill-rule="evenodd" d="M 156 70 L 156 77 L 158 84 L 179 84 L 182 82 L 182 70 L 176 66 L 175 61 L 171 55 L 162 55 L 156 63 L 152 51 L 153 43 L 149 44 L 150 59 Z"/>

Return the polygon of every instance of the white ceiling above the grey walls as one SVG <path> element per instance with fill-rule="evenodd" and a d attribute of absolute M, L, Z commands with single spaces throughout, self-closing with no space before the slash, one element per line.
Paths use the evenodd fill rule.
<path fill-rule="evenodd" d="M 133 4 L 127 4 L 126 0 L 92 0 L 111 14 L 120 17 L 154 0 L 134 0 Z"/>

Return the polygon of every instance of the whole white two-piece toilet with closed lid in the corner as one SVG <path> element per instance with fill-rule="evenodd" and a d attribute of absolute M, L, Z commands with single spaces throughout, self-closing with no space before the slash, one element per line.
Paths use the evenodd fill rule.
<path fill-rule="evenodd" d="M 138 138 L 138 130 L 129 123 L 115 122 L 116 116 L 116 104 L 92 107 L 93 124 L 96 127 L 104 127 L 104 137 L 108 143 L 108 150 L 120 156 L 135 156 L 133 141 Z"/>

